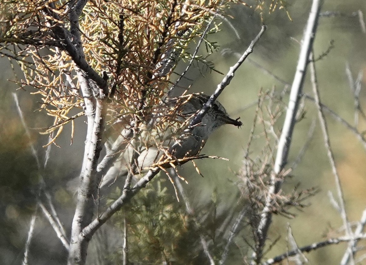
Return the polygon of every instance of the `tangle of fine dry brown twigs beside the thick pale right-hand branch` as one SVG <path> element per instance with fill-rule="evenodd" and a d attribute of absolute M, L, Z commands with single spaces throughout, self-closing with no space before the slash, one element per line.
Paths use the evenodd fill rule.
<path fill-rule="evenodd" d="M 270 101 L 270 104 L 264 105 L 265 99 Z M 309 206 L 306 202 L 309 197 L 314 196 L 318 192 L 316 188 L 300 190 L 299 184 L 289 193 L 281 191 L 277 194 L 270 194 L 269 187 L 271 182 L 271 170 L 274 164 L 274 145 L 276 145 L 278 136 L 270 133 L 273 131 L 273 125 L 276 124 L 278 118 L 283 114 L 283 103 L 280 99 L 275 98 L 273 91 L 266 93 L 260 92 L 257 109 L 253 120 L 253 125 L 250 131 L 247 148 L 244 152 L 244 165 L 242 172 L 238 174 L 240 179 L 239 189 L 244 201 L 246 201 L 247 214 L 244 217 L 247 224 L 251 227 L 251 239 L 246 239 L 247 244 L 256 250 L 260 241 L 260 235 L 257 228 L 263 209 L 266 205 L 266 198 L 271 196 L 273 204 L 268 211 L 271 214 L 284 216 L 286 218 L 295 217 L 295 211 L 302 211 L 303 208 Z M 259 127 L 258 127 L 259 126 Z M 259 137 L 256 134 L 259 132 Z M 258 154 L 251 150 L 253 141 L 263 143 L 262 151 Z M 255 145 L 258 149 L 258 144 Z M 254 159 L 252 157 L 255 157 Z M 281 180 L 290 177 L 290 170 L 283 175 L 278 176 Z M 254 241 L 254 242 L 252 242 Z M 273 241 L 265 250 L 269 251 L 278 241 Z"/>

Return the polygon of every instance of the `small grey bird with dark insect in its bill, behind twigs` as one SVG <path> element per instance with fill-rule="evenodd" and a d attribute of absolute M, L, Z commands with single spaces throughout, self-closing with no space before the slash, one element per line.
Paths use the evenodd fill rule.
<path fill-rule="evenodd" d="M 204 94 L 165 99 L 160 106 L 152 110 L 151 117 L 141 123 L 139 139 L 131 140 L 124 146 L 119 158 L 102 177 L 99 187 L 112 185 L 117 178 L 123 179 L 127 176 L 134 151 L 138 153 L 138 168 L 135 174 L 139 175 L 163 159 L 176 160 L 197 156 L 211 133 L 224 124 L 238 127 L 242 125 L 242 122 L 238 121 L 239 118 L 230 118 L 225 108 L 216 101 L 202 118 L 202 122 L 187 131 L 187 125 L 194 114 L 202 109 L 208 99 L 209 96 Z M 168 125 L 164 127 L 164 124 Z M 183 163 L 184 161 L 175 162 Z M 171 165 L 167 163 L 164 167 Z"/>

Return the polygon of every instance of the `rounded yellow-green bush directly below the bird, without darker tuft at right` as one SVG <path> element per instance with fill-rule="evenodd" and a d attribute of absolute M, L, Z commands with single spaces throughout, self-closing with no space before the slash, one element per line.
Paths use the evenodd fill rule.
<path fill-rule="evenodd" d="M 168 193 L 166 182 L 153 181 L 113 220 L 123 227 L 126 217 L 130 261 L 161 264 L 174 260 L 179 249 L 177 242 L 188 231 L 189 217 L 175 197 Z"/>

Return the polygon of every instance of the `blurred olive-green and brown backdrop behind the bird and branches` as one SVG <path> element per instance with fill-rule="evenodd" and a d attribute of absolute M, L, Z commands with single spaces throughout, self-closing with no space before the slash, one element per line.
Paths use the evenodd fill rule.
<path fill-rule="evenodd" d="M 229 209 L 232 209 L 234 219 L 238 214 L 236 209 L 240 193 L 237 173 L 243 166 L 243 154 L 255 111 L 255 106 L 248 108 L 246 106 L 257 101 L 258 92 L 261 89 L 268 91 L 274 88 L 275 91 L 282 91 L 285 84 L 291 85 L 298 60 L 299 41 L 302 38 L 311 5 L 311 1 L 300 0 L 287 1 L 287 3 L 287 9 L 293 21 L 289 20 L 283 10 L 270 15 L 264 14 L 264 22 L 268 25 L 268 29 L 257 43 L 253 54 L 249 56 L 251 61 L 245 61 L 218 99 L 230 116 L 240 117 L 244 125 L 239 129 L 229 125 L 221 127 L 210 137 L 202 153 L 222 156 L 230 161 L 210 159 L 197 161 L 204 178 L 198 175 L 194 167 L 188 163 L 181 171 L 189 182 L 183 184 L 184 189 L 192 207 L 197 212 L 203 211 L 208 204 L 214 204 L 217 216 L 225 215 Z M 325 0 L 322 12 L 334 13 L 320 18 L 314 45 L 315 58 L 333 46 L 330 52 L 316 63 L 321 101 L 351 125 L 354 125 L 355 108 L 353 92 L 346 75 L 346 65 L 349 65 L 354 80 L 359 73 L 363 74 L 359 96 L 362 109 L 365 106 L 366 97 L 366 33 L 363 32 L 360 24 L 359 10 L 366 16 L 365 1 Z M 246 50 L 261 26 L 258 12 L 243 5 L 234 5 L 227 11 L 227 15 L 228 21 L 223 22 L 222 30 L 210 36 L 211 40 L 218 42 L 220 49 L 210 56 L 209 60 L 213 61 L 216 69 L 223 73 L 236 63 L 238 54 L 240 56 Z M 204 52 L 203 48 L 202 52 Z M 2 165 L 0 167 L 0 263 L 19 264 L 23 258 L 30 218 L 35 209 L 39 172 L 31 155 L 29 140 L 17 114 L 12 93 L 15 92 L 19 96 L 27 125 L 33 128 L 32 143 L 36 146 L 38 156 L 41 158 L 45 154 L 45 148 L 42 148 L 42 145 L 47 143 L 47 136 L 40 135 L 35 128 L 44 128 L 51 124 L 52 120 L 45 113 L 37 111 L 39 107 L 37 95 L 30 95 L 30 92 L 34 91 L 16 90 L 17 87 L 11 80 L 17 77 L 14 76 L 7 58 L 0 58 L 0 67 L 0 164 Z M 185 65 L 182 64 L 175 71 L 179 73 L 184 68 Z M 15 73 L 21 77 L 17 69 Z M 216 72 L 206 71 L 203 74 L 201 75 L 200 71 L 193 68 L 188 72 L 187 77 L 193 80 L 190 92 L 212 94 L 223 78 Z M 276 79 L 273 75 L 278 78 Z M 191 83 L 190 80 L 184 80 L 181 84 L 188 86 Z M 312 95 L 309 75 L 303 90 Z M 288 97 L 285 96 L 283 101 L 287 103 L 287 99 Z M 304 110 L 305 118 L 295 126 L 288 161 L 290 164 L 294 162 L 299 150 L 305 144 L 309 127 L 314 118 L 317 118 L 313 102 L 305 100 Z M 350 222 L 357 222 L 366 208 L 366 150 L 344 125 L 328 114 L 326 114 L 326 120 L 344 190 L 348 218 Z M 282 121 L 283 118 L 277 122 L 276 131 L 280 130 Z M 357 127 L 359 132 L 366 129 L 365 125 L 365 120 L 360 116 Z M 55 197 L 61 220 L 68 231 L 70 231 L 73 216 L 74 197 L 67 191 L 66 183 L 80 172 L 85 128 L 83 118 L 79 118 L 76 122 L 72 145 L 70 145 L 71 128 L 65 128 L 63 135 L 57 141 L 61 148 L 52 147 L 51 160 L 46 172 L 43 173 Z M 261 152 L 262 145 L 263 143 L 259 141 L 253 142 L 253 156 Z M 335 181 L 318 122 L 309 148 L 299 166 L 291 172 L 291 176 L 286 179 L 284 190 L 291 191 L 300 183 L 301 189 L 317 187 L 320 192 L 306 201 L 309 207 L 302 211 L 293 211 L 296 218 L 274 217 L 269 236 L 272 241 L 280 238 L 265 254 L 268 258 L 287 250 L 288 224 L 299 246 L 343 233 L 343 230 L 339 230 L 342 226 L 340 215 L 331 205 L 328 197 L 328 191 L 336 194 Z M 160 178 L 166 177 L 161 175 Z M 172 197 L 174 201 L 175 195 L 170 182 L 165 181 L 163 185 L 168 188 L 166 196 Z M 182 202 L 169 203 L 182 207 Z M 206 210 L 209 211 L 209 209 Z M 246 243 L 247 237 L 250 238 L 250 234 L 246 227 L 242 227 L 242 232 L 235 238 L 227 264 L 244 264 L 243 257 L 250 251 Z M 359 245 L 365 244 L 361 242 Z M 182 246 L 183 249 L 184 247 Z M 309 264 L 336 264 L 339 263 L 345 249 L 346 244 L 343 243 L 313 251 L 306 256 L 309 258 Z M 44 217 L 38 215 L 30 248 L 30 264 L 64 264 L 65 255 L 66 252 L 56 238 L 55 232 Z M 177 264 L 179 263 L 177 261 Z M 198 264 L 198 260 L 192 259 L 191 263 Z M 361 264 L 366 264 L 366 261 Z"/>

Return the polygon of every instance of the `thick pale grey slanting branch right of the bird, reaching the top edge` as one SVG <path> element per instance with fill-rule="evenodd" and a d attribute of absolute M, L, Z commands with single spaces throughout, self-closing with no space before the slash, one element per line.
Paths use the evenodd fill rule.
<path fill-rule="evenodd" d="M 272 213 L 270 212 L 270 208 L 272 207 L 273 196 L 279 192 L 283 182 L 283 180 L 279 178 L 279 174 L 287 164 L 287 157 L 290 149 L 292 132 L 295 126 L 296 112 L 298 109 L 299 99 L 301 97 L 301 90 L 305 79 L 309 54 L 313 47 L 314 37 L 317 30 L 321 5 L 322 0 L 313 0 L 309 19 L 306 25 L 306 30 L 303 36 L 303 43 L 300 50 L 299 61 L 296 68 L 294 81 L 292 82 L 290 100 L 288 102 L 284 126 L 278 143 L 275 166 L 271 175 L 271 186 L 269 187 L 268 195 L 266 196 L 265 207 L 262 211 L 261 220 L 258 225 L 258 242 L 256 250 L 252 255 L 252 264 L 259 263 L 262 259 L 268 229 L 272 221 Z"/>

